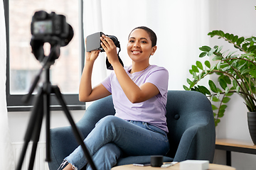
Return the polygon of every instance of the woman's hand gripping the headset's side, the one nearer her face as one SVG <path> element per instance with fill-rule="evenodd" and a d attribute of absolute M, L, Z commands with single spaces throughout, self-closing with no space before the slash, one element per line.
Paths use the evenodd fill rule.
<path fill-rule="evenodd" d="M 102 41 L 100 42 L 100 44 L 105 50 L 107 54 L 107 60 L 109 60 L 110 64 L 114 64 L 114 62 L 119 62 L 117 57 L 117 47 L 114 45 L 113 40 L 106 35 L 102 35 L 102 37 L 100 37 L 100 40 Z"/>

